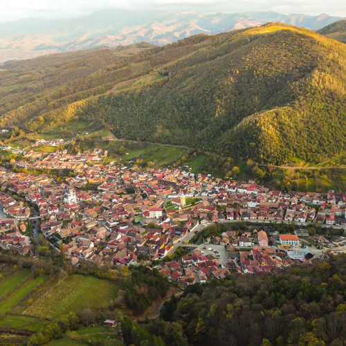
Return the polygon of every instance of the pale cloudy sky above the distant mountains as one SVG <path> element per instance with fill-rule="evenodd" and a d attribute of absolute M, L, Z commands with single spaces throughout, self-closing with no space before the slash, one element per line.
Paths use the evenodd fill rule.
<path fill-rule="evenodd" d="M 346 0 L 0 0 L 0 21 L 71 18 L 107 8 L 196 12 L 274 11 L 346 17 Z"/>

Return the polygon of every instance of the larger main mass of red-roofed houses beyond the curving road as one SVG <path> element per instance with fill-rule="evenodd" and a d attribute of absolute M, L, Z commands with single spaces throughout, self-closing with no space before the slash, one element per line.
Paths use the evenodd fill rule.
<path fill-rule="evenodd" d="M 56 248 L 62 244 L 66 259 L 73 264 L 92 261 L 124 265 L 135 264 L 138 258 L 160 259 L 197 225 L 212 222 L 346 224 L 346 194 L 271 191 L 254 181 L 214 179 L 193 174 L 185 167 L 141 170 L 136 165 L 106 165 L 106 157 L 107 151 L 102 149 L 78 154 L 57 151 L 15 163 L 22 168 L 71 170 L 73 174 L 64 181 L 1 168 L 1 208 L 13 219 L 27 219 L 30 206 L 35 207 L 42 233 Z M 29 206 L 8 193 L 25 199 Z M 170 208 L 165 208 L 167 201 Z M 264 233 L 259 233 L 259 246 L 268 246 L 266 241 Z M 219 244 L 253 246 L 246 235 L 226 235 Z M 207 272 L 226 275 L 227 268 L 220 268 L 219 262 L 202 262 L 206 261 L 211 261 L 206 264 Z"/>

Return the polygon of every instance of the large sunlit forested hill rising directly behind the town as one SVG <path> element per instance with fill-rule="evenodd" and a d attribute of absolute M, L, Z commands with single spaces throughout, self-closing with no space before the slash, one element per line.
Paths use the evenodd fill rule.
<path fill-rule="evenodd" d="M 59 75 L 49 72 L 51 86 Z M 48 90 L 10 83 L 0 89 L 15 99 L 0 104 L 3 127 L 79 119 L 119 138 L 266 163 L 318 163 L 346 147 L 345 44 L 286 24 L 149 48 Z"/>

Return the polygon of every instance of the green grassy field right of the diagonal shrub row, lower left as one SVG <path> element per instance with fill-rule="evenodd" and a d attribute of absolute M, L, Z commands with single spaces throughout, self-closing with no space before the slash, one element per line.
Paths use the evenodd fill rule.
<path fill-rule="evenodd" d="M 102 294 L 100 294 L 102 289 Z M 92 276 L 71 275 L 27 311 L 28 315 L 59 318 L 69 311 L 79 313 L 87 307 L 100 307 L 116 297 L 118 286 Z"/>

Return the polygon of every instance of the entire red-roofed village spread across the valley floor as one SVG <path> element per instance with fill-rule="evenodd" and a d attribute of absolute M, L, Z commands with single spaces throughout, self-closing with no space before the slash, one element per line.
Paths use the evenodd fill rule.
<path fill-rule="evenodd" d="M 48 244 L 64 251 L 73 265 L 161 260 L 154 262 L 156 268 L 170 280 L 190 284 L 232 272 L 276 272 L 322 255 L 300 241 L 309 235 L 304 225 L 345 230 L 346 194 L 272 191 L 255 181 L 194 174 L 188 167 L 141 170 L 132 163 L 104 164 L 105 158 L 102 149 L 78 154 L 57 150 L 13 162 L 19 172 L 0 167 L 2 248 L 33 255 L 26 224 L 39 220 Z M 26 172 L 44 168 L 72 174 L 53 179 Z M 255 225 L 234 230 L 232 224 L 240 221 L 300 224 L 302 230 L 280 234 Z M 186 244 L 215 223 L 229 224 L 229 230 L 203 244 Z M 316 242 L 329 243 L 321 236 Z M 181 245 L 188 255 L 170 260 Z M 337 245 L 343 246 L 343 237 Z"/>

